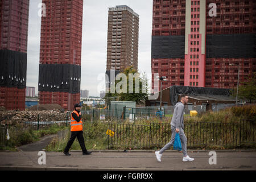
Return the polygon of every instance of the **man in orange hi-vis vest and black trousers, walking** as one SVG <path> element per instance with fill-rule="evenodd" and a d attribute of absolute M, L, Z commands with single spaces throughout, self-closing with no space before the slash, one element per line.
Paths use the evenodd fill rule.
<path fill-rule="evenodd" d="M 84 144 L 84 137 L 82 136 L 82 119 L 80 114 L 81 106 L 79 104 L 75 104 L 74 107 L 75 110 L 71 114 L 71 138 L 69 139 L 63 153 L 65 155 L 71 155 L 68 151 L 77 137 L 77 139 L 79 140 L 79 144 L 82 148 L 82 155 L 89 155 L 92 152 L 86 150 Z"/>

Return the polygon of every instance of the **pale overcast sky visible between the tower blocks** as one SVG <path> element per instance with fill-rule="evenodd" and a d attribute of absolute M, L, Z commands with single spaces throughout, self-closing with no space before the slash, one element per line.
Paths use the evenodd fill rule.
<path fill-rule="evenodd" d="M 27 86 L 38 93 L 40 26 L 39 3 L 30 0 L 27 47 Z M 151 74 L 152 0 L 84 0 L 82 18 L 81 89 L 100 96 L 98 75 L 106 71 L 108 7 L 127 5 L 139 14 L 138 71 Z M 148 77 L 150 78 L 150 77 Z M 150 84 L 150 82 L 149 82 Z"/>

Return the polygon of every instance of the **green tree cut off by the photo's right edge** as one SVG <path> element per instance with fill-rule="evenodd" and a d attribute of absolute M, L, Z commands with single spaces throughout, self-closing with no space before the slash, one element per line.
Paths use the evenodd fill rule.
<path fill-rule="evenodd" d="M 237 89 L 234 89 L 233 96 L 236 96 L 236 93 Z M 256 73 L 253 73 L 252 76 L 238 86 L 238 98 L 249 100 L 250 103 L 256 100 Z"/>

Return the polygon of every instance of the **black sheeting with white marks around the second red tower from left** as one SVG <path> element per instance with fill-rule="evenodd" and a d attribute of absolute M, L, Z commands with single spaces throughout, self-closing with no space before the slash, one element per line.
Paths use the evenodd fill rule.
<path fill-rule="evenodd" d="M 39 64 L 39 91 L 80 93 L 80 79 L 80 65 Z"/>

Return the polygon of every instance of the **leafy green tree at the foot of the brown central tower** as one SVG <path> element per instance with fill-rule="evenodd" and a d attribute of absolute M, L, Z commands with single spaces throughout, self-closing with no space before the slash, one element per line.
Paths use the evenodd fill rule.
<path fill-rule="evenodd" d="M 127 80 L 123 80 L 121 78 L 120 80 L 115 80 L 115 88 L 117 88 L 118 85 L 121 85 L 121 93 L 118 93 L 117 90 L 115 89 L 115 93 L 110 93 L 110 88 L 109 88 L 109 93 L 106 93 L 105 97 L 120 97 L 120 101 L 135 101 L 136 104 L 143 104 L 143 101 L 147 100 L 148 98 L 148 80 L 146 78 L 145 74 L 140 74 L 136 72 L 133 67 L 126 68 L 122 73 L 126 75 Z M 129 93 L 129 73 L 133 75 L 133 88 L 130 88 L 133 90 L 133 93 Z M 137 73 L 137 74 L 136 74 Z M 131 78 L 130 78 L 131 79 Z M 139 80 L 139 88 L 135 88 L 135 80 Z M 126 90 L 123 88 L 122 82 L 126 82 Z M 146 83 L 143 85 L 143 82 Z M 143 85 L 143 86 L 142 86 Z M 130 85 L 131 86 L 131 85 Z M 139 90 L 138 93 L 135 93 L 135 90 Z"/>

